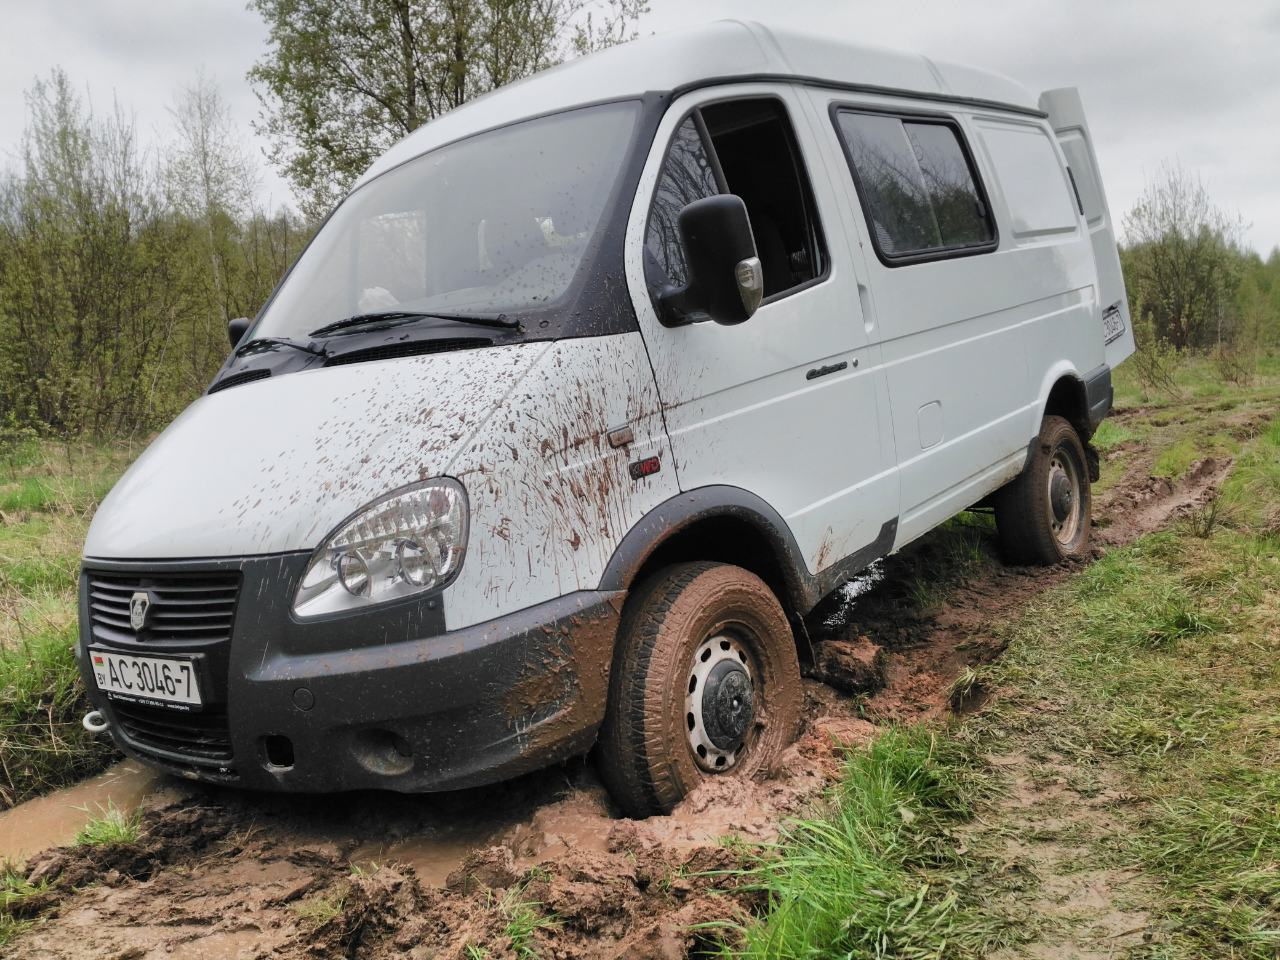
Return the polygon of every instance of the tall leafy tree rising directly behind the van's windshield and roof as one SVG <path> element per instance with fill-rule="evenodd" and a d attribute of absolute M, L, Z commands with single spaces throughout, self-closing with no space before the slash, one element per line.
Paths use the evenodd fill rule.
<path fill-rule="evenodd" d="M 467 100 L 635 36 L 644 0 L 250 0 L 256 129 L 319 218 L 396 141 Z"/>

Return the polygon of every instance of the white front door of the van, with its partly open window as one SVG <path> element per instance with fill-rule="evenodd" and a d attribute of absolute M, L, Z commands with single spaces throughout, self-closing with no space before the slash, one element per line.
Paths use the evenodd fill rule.
<path fill-rule="evenodd" d="M 746 204 L 764 300 L 744 324 L 664 326 L 658 296 L 686 279 L 680 210 L 713 193 Z M 887 553 L 897 517 L 881 372 L 837 204 L 795 91 L 742 83 L 672 104 L 627 230 L 627 280 L 681 489 L 762 498 L 828 581 L 858 566 L 845 558 Z"/>

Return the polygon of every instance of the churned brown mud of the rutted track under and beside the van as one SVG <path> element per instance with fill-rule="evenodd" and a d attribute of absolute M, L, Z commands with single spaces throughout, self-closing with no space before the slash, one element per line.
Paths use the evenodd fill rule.
<path fill-rule="evenodd" d="M 1123 476 L 1096 498 L 1098 552 L 1206 502 L 1229 468 L 1202 461 L 1172 484 L 1149 476 L 1142 451 L 1125 454 L 1111 467 Z M 773 780 L 712 781 L 645 822 L 616 818 L 585 762 L 428 797 L 256 796 L 165 781 L 143 801 L 138 844 L 31 858 L 28 876 L 51 886 L 26 906 L 41 923 L 9 951 L 479 960 L 517 955 L 520 905 L 535 902 L 554 922 L 515 946 L 544 957 L 698 952 L 731 936 L 698 924 L 762 908 L 707 876 L 742 861 L 742 846 L 724 838 L 776 836 L 836 776 L 842 745 L 879 724 L 977 705 L 982 691 L 957 694 L 956 678 L 1000 654 L 1002 621 L 1075 572 L 979 563 L 922 607 L 901 564 L 928 549 L 927 538 L 915 554 L 884 561 L 812 618 L 810 673 L 828 682 L 805 680 L 805 732 Z"/>

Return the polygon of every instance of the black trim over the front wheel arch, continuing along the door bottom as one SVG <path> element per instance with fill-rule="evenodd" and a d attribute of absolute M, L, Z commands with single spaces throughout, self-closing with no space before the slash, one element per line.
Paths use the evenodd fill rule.
<path fill-rule="evenodd" d="M 837 586 L 893 549 L 897 517 L 881 525 L 876 539 L 817 573 L 810 573 L 804 553 L 782 516 L 760 497 L 740 486 L 713 485 L 676 494 L 636 522 L 609 558 L 600 577 L 602 591 L 626 590 L 644 562 L 667 539 L 699 521 L 717 517 L 740 520 L 764 535 L 786 580 L 791 609 L 804 614 Z"/>

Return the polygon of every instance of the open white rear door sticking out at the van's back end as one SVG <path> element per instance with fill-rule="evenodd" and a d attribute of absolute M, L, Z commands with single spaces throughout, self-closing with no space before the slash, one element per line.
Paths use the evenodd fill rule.
<path fill-rule="evenodd" d="M 1124 288 L 1124 273 L 1120 269 L 1120 251 L 1116 248 L 1116 229 L 1107 206 L 1107 195 L 1102 187 L 1102 174 L 1098 170 L 1097 154 L 1089 136 L 1089 124 L 1084 118 L 1084 105 L 1075 87 L 1048 90 L 1041 95 L 1041 110 L 1048 114 L 1053 132 L 1066 163 L 1080 192 L 1080 205 L 1088 225 L 1093 247 L 1093 260 L 1097 265 L 1098 283 L 1098 329 L 1106 340 L 1106 362 L 1115 367 L 1134 349 L 1133 319 L 1129 316 L 1129 297 Z M 1117 329 L 1115 317 L 1107 311 L 1117 311 L 1123 328 Z"/>

